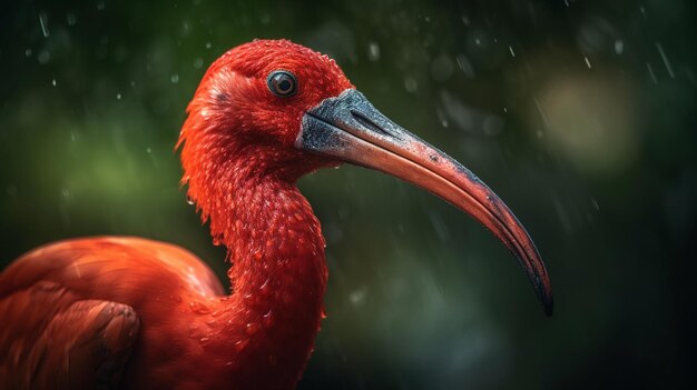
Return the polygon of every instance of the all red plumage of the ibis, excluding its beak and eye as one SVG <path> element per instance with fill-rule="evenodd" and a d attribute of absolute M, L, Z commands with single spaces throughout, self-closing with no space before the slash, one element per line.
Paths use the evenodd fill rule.
<path fill-rule="evenodd" d="M 303 92 L 283 107 L 266 87 L 274 69 L 293 71 Z M 72 372 L 56 361 L 75 358 L 41 340 L 52 332 L 70 347 L 76 333 L 104 328 L 92 318 L 105 308 L 139 319 L 139 333 L 137 322 L 126 333 L 132 352 L 109 350 L 127 361 L 125 388 L 292 388 L 320 329 L 327 278 L 320 222 L 295 181 L 336 163 L 292 146 L 302 113 L 350 87 L 333 60 L 285 40 L 243 44 L 213 63 L 178 146 L 188 196 L 234 262 L 232 296 L 199 259 L 167 243 L 94 238 L 39 248 L 0 276 L 0 388 L 51 387 Z M 124 336 L 92 337 L 109 344 Z M 39 369 L 27 363 L 38 349 Z M 97 387 L 101 379 L 84 371 L 79 383 L 58 383 Z"/>

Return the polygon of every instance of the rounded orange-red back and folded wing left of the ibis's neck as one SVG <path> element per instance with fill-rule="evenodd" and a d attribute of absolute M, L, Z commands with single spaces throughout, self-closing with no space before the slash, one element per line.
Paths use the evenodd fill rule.
<path fill-rule="evenodd" d="M 0 273 L 0 389 L 110 388 L 131 350 L 134 360 L 161 352 L 151 338 L 186 304 L 179 297 L 224 292 L 196 256 L 164 242 L 97 237 L 37 248 Z"/>

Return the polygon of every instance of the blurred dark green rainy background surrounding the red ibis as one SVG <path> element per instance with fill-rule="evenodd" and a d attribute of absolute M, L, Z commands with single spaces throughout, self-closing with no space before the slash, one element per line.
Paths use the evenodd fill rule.
<path fill-rule="evenodd" d="M 132 234 L 225 274 L 174 151 L 207 66 L 254 38 L 337 60 L 536 240 L 516 261 L 440 199 L 355 167 L 304 178 L 328 318 L 301 389 L 695 384 L 697 146 L 688 0 L 16 1 L 0 12 L 0 267 Z"/>

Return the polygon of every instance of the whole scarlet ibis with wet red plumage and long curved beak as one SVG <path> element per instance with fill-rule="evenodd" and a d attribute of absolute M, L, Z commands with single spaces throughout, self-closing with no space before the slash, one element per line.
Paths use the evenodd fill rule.
<path fill-rule="evenodd" d="M 289 389 L 323 317 L 320 222 L 295 182 L 342 162 L 423 187 L 491 230 L 552 296 L 532 240 L 460 163 L 377 111 L 336 63 L 286 40 L 216 60 L 181 129 L 183 182 L 233 293 L 190 252 L 99 237 L 30 251 L 0 274 L 2 389 Z"/>

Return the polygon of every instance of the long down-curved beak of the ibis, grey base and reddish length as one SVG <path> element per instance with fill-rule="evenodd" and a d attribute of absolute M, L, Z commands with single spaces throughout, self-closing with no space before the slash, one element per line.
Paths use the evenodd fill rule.
<path fill-rule="evenodd" d="M 395 176 L 469 213 L 516 256 L 551 316 L 544 263 L 505 203 L 458 161 L 383 116 L 357 90 L 347 89 L 307 111 L 295 147 Z"/>

